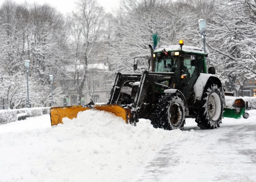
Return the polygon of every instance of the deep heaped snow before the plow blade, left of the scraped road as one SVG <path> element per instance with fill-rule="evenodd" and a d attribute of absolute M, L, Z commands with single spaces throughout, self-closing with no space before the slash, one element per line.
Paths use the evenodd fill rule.
<path fill-rule="evenodd" d="M 134 127 L 96 110 L 63 122 L 0 135 L 0 181 L 132 181 L 161 146 L 203 136 L 155 129 L 145 119 Z"/>

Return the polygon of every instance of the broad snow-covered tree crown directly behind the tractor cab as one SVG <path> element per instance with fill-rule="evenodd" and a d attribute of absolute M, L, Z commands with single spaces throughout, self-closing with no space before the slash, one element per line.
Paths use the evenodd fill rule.
<path fill-rule="evenodd" d="M 112 71 L 123 73 L 133 72 L 134 57 L 150 55 L 152 33 L 159 34 L 159 46 L 178 44 L 180 39 L 191 45 L 197 24 L 181 3 L 159 0 L 124 0 L 115 22 L 108 59 Z M 147 61 L 140 66 L 147 69 Z"/>

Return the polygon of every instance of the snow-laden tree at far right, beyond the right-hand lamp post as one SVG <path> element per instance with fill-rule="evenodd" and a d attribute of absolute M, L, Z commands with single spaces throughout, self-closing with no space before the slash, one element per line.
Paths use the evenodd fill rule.
<path fill-rule="evenodd" d="M 208 24 L 211 36 L 207 45 L 215 54 L 217 66 L 221 65 L 224 85 L 243 95 L 246 78 L 256 73 L 256 2 L 224 0 L 214 11 L 216 17 Z"/>

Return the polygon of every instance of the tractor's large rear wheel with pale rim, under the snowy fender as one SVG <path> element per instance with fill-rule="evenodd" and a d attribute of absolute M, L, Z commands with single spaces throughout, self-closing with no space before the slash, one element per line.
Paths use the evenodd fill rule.
<path fill-rule="evenodd" d="M 220 127 L 223 117 L 223 89 L 216 84 L 208 86 L 202 95 L 202 105 L 196 113 L 195 122 L 201 129 Z"/>

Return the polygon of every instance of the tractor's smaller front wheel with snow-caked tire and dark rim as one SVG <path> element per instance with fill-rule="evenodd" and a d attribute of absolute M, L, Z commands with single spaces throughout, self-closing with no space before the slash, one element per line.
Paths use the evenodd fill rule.
<path fill-rule="evenodd" d="M 182 129 L 185 124 L 185 104 L 176 94 L 164 94 L 156 105 L 156 118 L 151 121 L 155 128 Z"/>

